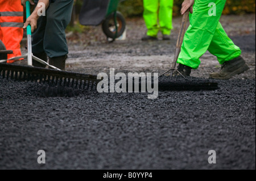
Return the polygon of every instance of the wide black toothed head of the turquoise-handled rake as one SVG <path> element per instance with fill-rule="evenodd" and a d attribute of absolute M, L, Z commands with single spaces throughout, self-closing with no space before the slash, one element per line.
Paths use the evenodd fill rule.
<path fill-rule="evenodd" d="M 98 82 L 96 75 L 2 63 L 0 63 L 0 77 L 15 81 L 48 83 L 52 86 L 60 86 L 60 90 L 63 89 L 61 86 L 89 89 L 95 87 Z"/>

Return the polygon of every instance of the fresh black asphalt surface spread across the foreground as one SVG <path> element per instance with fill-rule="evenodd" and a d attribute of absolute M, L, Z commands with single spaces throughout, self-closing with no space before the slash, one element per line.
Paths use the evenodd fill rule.
<path fill-rule="evenodd" d="M 217 82 L 160 89 L 151 100 L 89 90 L 45 97 L 43 85 L 0 78 L 0 169 L 255 169 L 255 78 Z"/>

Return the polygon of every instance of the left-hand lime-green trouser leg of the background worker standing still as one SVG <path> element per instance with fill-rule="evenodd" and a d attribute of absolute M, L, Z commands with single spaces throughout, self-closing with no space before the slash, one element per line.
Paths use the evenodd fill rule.
<path fill-rule="evenodd" d="M 159 0 L 143 0 L 143 18 L 148 36 L 156 37 L 158 35 L 158 5 Z"/>

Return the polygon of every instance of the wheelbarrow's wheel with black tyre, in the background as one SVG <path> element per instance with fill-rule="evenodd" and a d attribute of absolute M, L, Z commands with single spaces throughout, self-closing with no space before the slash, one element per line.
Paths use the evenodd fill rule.
<path fill-rule="evenodd" d="M 115 21 L 114 13 L 109 15 L 102 23 L 102 31 L 107 37 L 115 39 L 123 34 L 125 31 L 126 22 L 121 12 L 117 11 L 117 36 L 115 35 Z"/>

